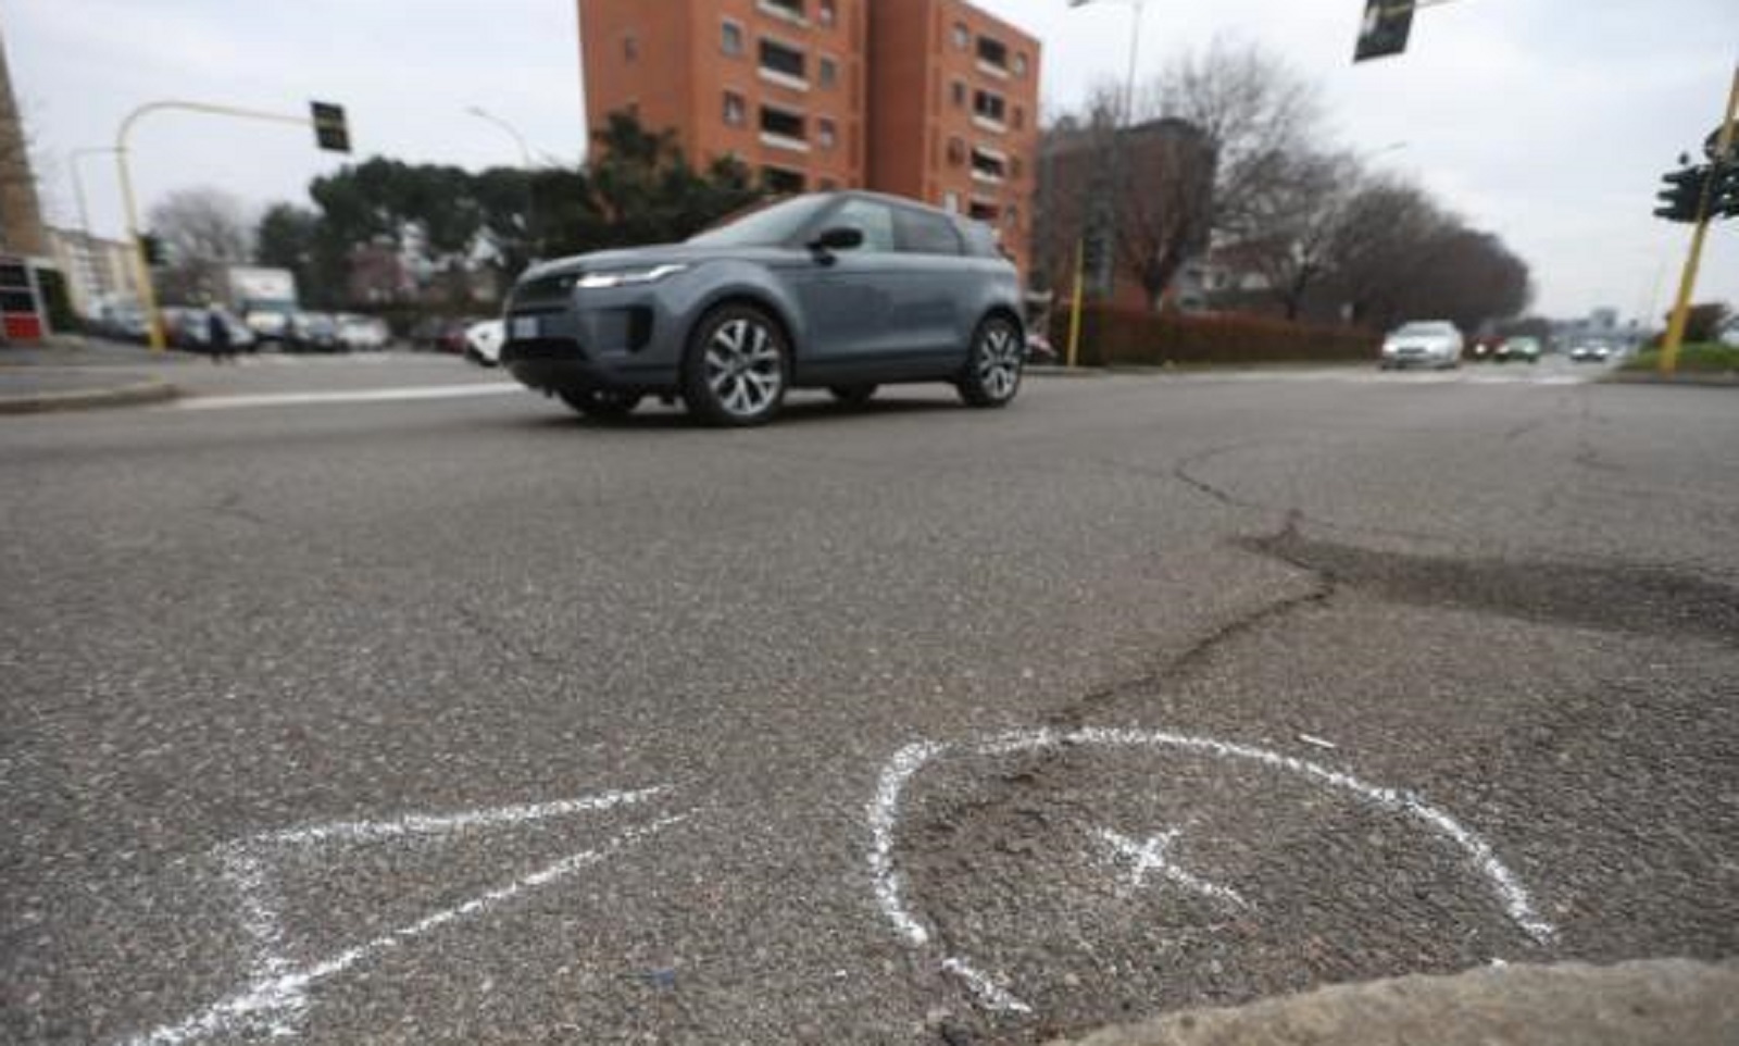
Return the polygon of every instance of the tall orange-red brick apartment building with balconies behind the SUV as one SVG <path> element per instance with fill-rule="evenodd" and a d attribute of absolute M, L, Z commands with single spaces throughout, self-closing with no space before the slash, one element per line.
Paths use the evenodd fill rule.
<path fill-rule="evenodd" d="M 586 118 L 631 110 L 786 191 L 871 188 L 995 225 L 1023 272 L 1040 44 L 965 0 L 579 0 Z"/>

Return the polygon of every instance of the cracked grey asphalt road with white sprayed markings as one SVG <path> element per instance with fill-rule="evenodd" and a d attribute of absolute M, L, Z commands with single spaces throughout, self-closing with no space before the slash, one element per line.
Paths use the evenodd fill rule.
<path fill-rule="evenodd" d="M 1732 957 L 1739 400 L 1582 376 L 722 433 L 384 357 L 0 419 L 0 1041 L 1038 1043 Z"/>

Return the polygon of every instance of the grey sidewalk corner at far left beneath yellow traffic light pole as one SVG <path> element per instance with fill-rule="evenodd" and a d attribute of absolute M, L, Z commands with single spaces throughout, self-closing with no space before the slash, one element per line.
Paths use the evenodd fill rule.
<path fill-rule="evenodd" d="M 177 390 L 162 371 L 186 362 L 181 353 L 106 341 L 0 346 L 0 414 L 163 402 Z"/>

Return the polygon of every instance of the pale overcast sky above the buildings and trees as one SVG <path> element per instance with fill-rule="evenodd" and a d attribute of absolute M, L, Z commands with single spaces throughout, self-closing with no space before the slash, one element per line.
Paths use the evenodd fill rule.
<path fill-rule="evenodd" d="M 1122 77 L 1127 3 L 981 5 L 1045 42 L 1052 108 Z M 1459 0 L 1417 14 L 1405 56 L 1355 68 L 1362 9 L 1149 0 L 1141 70 L 1216 35 L 1261 44 L 1322 87 L 1341 144 L 1417 179 L 1527 258 L 1542 312 L 1666 306 L 1689 231 L 1650 216 L 1654 193 L 1720 122 L 1739 3 Z M 332 99 L 350 110 L 358 155 L 473 169 L 518 153 L 468 106 L 506 117 L 543 153 L 572 160 L 584 143 L 576 0 L 0 0 L 0 31 L 63 223 L 73 216 L 68 150 L 113 143 L 132 106 L 160 97 L 278 111 Z M 310 178 L 341 162 L 290 127 L 184 115 L 148 118 L 134 151 L 146 204 L 198 184 L 252 205 L 306 202 Z M 82 171 L 92 225 L 118 230 L 113 164 Z M 1716 226 L 1699 287 L 1739 305 L 1739 223 Z"/>

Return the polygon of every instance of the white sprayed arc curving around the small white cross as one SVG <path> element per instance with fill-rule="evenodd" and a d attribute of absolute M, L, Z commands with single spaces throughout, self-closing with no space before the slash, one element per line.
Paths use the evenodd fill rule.
<path fill-rule="evenodd" d="M 1104 729 L 1082 728 L 1073 731 L 1014 731 L 995 734 L 972 743 L 915 741 L 906 745 L 882 768 L 875 799 L 870 802 L 870 874 L 875 882 L 876 907 L 894 924 L 906 942 L 922 949 L 930 943 L 930 928 L 908 907 L 901 875 L 894 870 L 894 830 L 899 825 L 901 802 L 906 785 L 911 783 L 925 766 L 943 755 L 1019 755 L 1063 747 L 1101 747 L 1101 748 L 1176 748 L 1196 755 L 1254 762 L 1273 769 L 1297 774 L 1318 787 L 1339 790 L 1376 806 L 1386 813 L 1407 815 L 1419 821 L 1431 834 L 1454 842 L 1466 855 L 1468 863 L 1480 872 L 1504 915 L 1515 922 L 1522 933 L 1536 943 L 1549 943 L 1556 929 L 1534 910 L 1534 902 L 1490 844 L 1469 832 L 1442 809 L 1428 804 L 1419 795 L 1400 788 L 1384 788 L 1355 778 L 1353 774 L 1330 769 L 1327 766 L 1282 755 L 1268 748 L 1240 745 L 1149 729 Z M 944 955 L 941 969 L 958 976 L 977 997 L 979 1004 L 995 1013 L 1031 1013 L 1033 1008 L 1000 983 L 998 978 L 981 969 L 965 955 Z"/>

